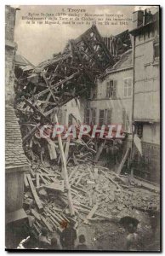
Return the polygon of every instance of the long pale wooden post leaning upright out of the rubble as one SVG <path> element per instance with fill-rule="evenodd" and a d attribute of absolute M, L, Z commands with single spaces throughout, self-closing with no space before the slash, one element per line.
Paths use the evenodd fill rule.
<path fill-rule="evenodd" d="M 55 113 L 54 117 L 55 117 L 55 122 L 58 124 L 58 118 L 57 118 L 57 114 L 56 113 Z M 68 204 L 69 204 L 69 207 L 70 207 L 71 215 L 74 215 L 75 211 L 74 211 L 74 207 L 73 207 L 73 203 L 72 203 L 72 198 L 71 198 L 71 186 L 70 186 L 70 183 L 69 183 L 69 178 L 68 178 L 68 173 L 67 173 L 64 148 L 62 146 L 62 139 L 60 137 L 60 134 L 58 134 L 57 137 L 58 137 L 58 142 L 59 142 L 59 147 L 60 147 L 61 161 L 62 161 L 62 164 L 63 164 L 63 168 L 62 169 L 63 169 L 63 175 L 64 175 L 64 180 L 65 180 L 65 187 L 66 187 L 66 189 L 68 191 Z"/>

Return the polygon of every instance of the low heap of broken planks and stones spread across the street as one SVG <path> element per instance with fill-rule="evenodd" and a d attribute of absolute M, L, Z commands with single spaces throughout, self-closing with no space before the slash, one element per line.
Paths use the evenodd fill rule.
<path fill-rule="evenodd" d="M 72 217 L 67 200 L 63 173 L 59 166 L 31 162 L 31 173 L 25 175 L 24 208 L 32 233 L 37 237 L 42 227 L 51 234 L 60 233 L 65 224 L 92 224 L 95 221 L 118 223 L 123 216 L 141 218 L 158 206 L 159 194 L 136 188 L 105 167 L 82 164 L 68 167 Z M 137 192 L 138 191 L 138 192 Z M 147 192 L 149 192 L 147 194 Z"/>

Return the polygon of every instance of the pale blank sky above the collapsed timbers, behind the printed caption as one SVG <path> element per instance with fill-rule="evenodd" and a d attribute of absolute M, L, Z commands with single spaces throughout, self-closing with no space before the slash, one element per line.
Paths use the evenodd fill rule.
<path fill-rule="evenodd" d="M 18 6 L 17 6 L 18 7 Z M 69 39 L 77 38 L 85 32 L 88 25 L 38 25 L 26 24 L 22 16 L 32 14 L 61 12 L 64 6 L 52 5 L 20 5 L 20 10 L 16 13 L 16 23 L 14 31 L 14 41 L 18 44 L 17 53 L 26 57 L 32 64 L 37 65 L 41 61 L 51 58 L 54 53 L 58 53 L 65 48 Z M 117 14 L 124 15 L 125 18 L 132 18 L 135 6 L 67 6 L 67 8 L 86 9 L 88 14 Z M 66 7 L 65 7 L 66 9 Z M 131 29 L 132 21 L 128 25 L 97 26 L 101 36 L 117 35 L 126 29 Z"/>

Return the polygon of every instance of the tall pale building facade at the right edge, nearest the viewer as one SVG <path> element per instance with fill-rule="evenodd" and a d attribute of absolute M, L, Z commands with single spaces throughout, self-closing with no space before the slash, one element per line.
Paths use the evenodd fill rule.
<path fill-rule="evenodd" d="M 159 14 L 134 12 L 134 125 L 142 142 L 135 155 L 134 174 L 159 181 L 160 177 L 160 66 Z"/>

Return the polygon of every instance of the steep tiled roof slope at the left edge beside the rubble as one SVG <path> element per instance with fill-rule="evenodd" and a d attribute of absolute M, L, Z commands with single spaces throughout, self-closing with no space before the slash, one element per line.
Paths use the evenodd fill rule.
<path fill-rule="evenodd" d="M 6 106 L 5 109 L 5 164 L 11 166 L 29 166 L 24 150 L 20 125 L 14 112 L 14 108 Z"/>

